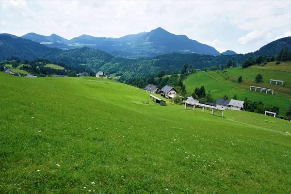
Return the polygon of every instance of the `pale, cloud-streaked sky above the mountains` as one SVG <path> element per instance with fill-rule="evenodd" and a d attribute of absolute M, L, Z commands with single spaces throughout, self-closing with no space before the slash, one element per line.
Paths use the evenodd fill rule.
<path fill-rule="evenodd" d="M 0 1 L 0 33 L 121 37 L 162 27 L 220 52 L 253 52 L 291 36 L 291 0 Z"/>

